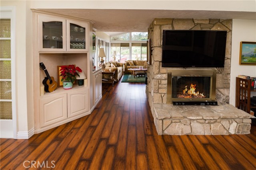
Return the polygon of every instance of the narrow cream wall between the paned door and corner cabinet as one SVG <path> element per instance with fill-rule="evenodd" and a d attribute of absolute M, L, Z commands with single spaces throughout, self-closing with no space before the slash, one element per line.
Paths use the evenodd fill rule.
<path fill-rule="evenodd" d="M 1 6 L 15 6 L 15 82 L 16 82 L 16 119 L 17 133 L 23 134 L 34 127 L 34 114 L 32 110 L 32 64 L 27 63 L 32 61 L 32 48 L 26 49 L 27 45 L 31 45 L 31 39 L 27 33 L 32 33 L 32 30 L 27 30 L 32 25 L 26 25 L 27 18 L 27 2 L 26 1 L 1 1 Z M 31 22 L 31 21 L 30 21 Z M 30 42 L 29 42 L 30 41 Z M 26 42 L 28 43 L 26 45 Z M 30 46 L 32 47 L 32 45 Z M 28 65 L 31 64 L 31 65 Z M 27 91 L 27 88 L 30 88 Z M 28 96 L 29 95 L 29 96 Z M 28 107 L 30 105 L 30 107 Z"/>

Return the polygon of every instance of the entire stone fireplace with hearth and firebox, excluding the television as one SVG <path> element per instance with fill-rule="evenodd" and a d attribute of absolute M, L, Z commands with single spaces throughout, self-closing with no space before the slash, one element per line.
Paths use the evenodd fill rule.
<path fill-rule="evenodd" d="M 197 68 L 162 67 L 162 34 L 166 29 L 227 31 L 224 68 L 200 68 L 203 75 L 184 72 Z M 148 29 L 151 61 L 146 94 L 159 135 L 229 135 L 250 133 L 250 114 L 229 105 L 232 20 L 155 19 Z M 177 74 L 182 72 L 182 74 Z M 213 72 L 209 76 L 208 73 Z M 171 72 L 171 74 L 170 74 Z M 196 71 L 195 71 L 196 72 Z M 194 73 L 192 73 L 194 74 Z M 174 77 L 170 75 L 175 75 Z M 169 79 L 170 77 L 171 79 Z M 190 76 L 190 78 L 188 78 Z M 192 77 L 192 79 L 191 79 Z M 216 78 L 216 83 L 214 80 Z M 194 81 L 194 82 L 191 82 Z M 175 84 L 169 86 L 170 83 Z M 202 88 L 202 85 L 205 86 Z M 174 87 L 175 86 L 175 87 Z M 210 88 L 209 88 L 210 86 Z M 215 88 L 214 88 L 215 86 Z M 192 88 L 196 88 L 193 90 Z M 198 90 L 198 91 L 197 91 Z M 188 92 L 190 91 L 190 92 Z M 184 92 L 184 94 L 183 94 Z M 190 96 L 191 93 L 201 96 Z M 216 100 L 218 106 L 173 106 L 174 100 Z"/>

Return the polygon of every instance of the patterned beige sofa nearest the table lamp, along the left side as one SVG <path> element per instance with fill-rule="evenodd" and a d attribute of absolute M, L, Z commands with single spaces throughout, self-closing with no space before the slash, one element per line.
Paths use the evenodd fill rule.
<path fill-rule="evenodd" d="M 104 70 L 106 71 L 109 71 L 110 68 L 113 70 L 116 70 L 114 74 L 114 79 L 116 81 L 119 81 L 119 79 L 123 75 L 123 63 L 118 63 L 117 61 L 108 61 L 107 63 L 104 63 L 104 66 L 105 66 Z"/>

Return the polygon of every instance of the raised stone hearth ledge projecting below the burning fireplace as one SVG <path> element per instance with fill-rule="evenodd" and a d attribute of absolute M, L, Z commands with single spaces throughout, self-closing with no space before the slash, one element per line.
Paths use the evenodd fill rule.
<path fill-rule="evenodd" d="M 229 104 L 173 106 L 154 104 L 154 123 L 159 135 L 249 134 L 252 115 Z"/>

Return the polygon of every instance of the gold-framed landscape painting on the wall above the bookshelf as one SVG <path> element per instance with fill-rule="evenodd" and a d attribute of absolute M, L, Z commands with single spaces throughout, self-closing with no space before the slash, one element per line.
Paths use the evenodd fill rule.
<path fill-rule="evenodd" d="M 240 65 L 256 65 L 256 42 L 240 42 Z"/>

